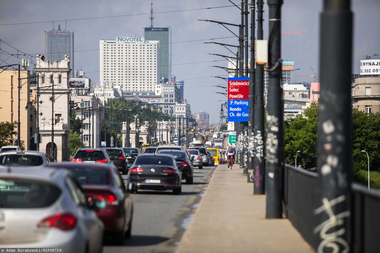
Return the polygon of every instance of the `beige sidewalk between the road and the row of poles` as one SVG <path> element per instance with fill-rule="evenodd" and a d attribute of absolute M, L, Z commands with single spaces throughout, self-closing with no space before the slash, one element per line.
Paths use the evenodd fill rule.
<path fill-rule="evenodd" d="M 265 195 L 238 166 L 218 165 L 176 253 L 314 252 L 287 219 L 265 219 Z"/>

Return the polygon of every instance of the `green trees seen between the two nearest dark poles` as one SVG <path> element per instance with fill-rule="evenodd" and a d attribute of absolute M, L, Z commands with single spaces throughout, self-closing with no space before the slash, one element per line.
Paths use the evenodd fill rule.
<path fill-rule="evenodd" d="M 318 103 L 312 102 L 304 115 L 288 118 L 284 121 L 285 161 L 294 164 L 296 152 L 297 163 L 302 168 L 317 167 L 317 124 Z"/>

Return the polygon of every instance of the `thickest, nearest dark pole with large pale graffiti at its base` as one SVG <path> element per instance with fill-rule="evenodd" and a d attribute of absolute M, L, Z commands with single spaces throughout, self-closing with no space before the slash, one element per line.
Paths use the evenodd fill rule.
<path fill-rule="evenodd" d="M 323 1 L 320 16 L 320 88 L 318 181 L 314 209 L 317 251 L 326 244 L 349 252 L 351 231 L 351 82 L 352 19 L 350 0 Z M 339 45 L 339 46 L 337 46 Z M 338 66 L 339 68 L 336 68 Z M 333 99 L 339 97 L 339 99 Z M 339 216 L 339 218 L 337 218 Z M 337 222 L 332 222 L 336 218 Z M 331 222 L 329 222 L 331 221 Z M 328 232 L 327 232 L 328 231 Z M 333 235 L 334 239 L 326 236 Z M 329 242 L 328 242 L 329 241 Z M 331 246 L 327 246 L 331 247 Z"/>

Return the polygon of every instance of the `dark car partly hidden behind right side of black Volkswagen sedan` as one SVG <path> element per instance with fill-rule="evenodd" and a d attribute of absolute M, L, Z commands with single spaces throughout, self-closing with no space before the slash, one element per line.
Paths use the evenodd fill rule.
<path fill-rule="evenodd" d="M 186 179 L 186 184 L 193 183 L 193 165 L 192 158 L 185 150 L 175 150 L 175 149 L 161 149 L 157 154 L 168 154 L 174 157 L 177 163 L 177 167 L 182 173 L 182 180 Z"/>

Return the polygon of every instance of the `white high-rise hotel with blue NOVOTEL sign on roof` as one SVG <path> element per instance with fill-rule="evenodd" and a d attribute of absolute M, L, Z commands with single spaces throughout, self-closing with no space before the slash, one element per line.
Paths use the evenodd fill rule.
<path fill-rule="evenodd" d="M 100 40 L 100 84 L 155 93 L 160 73 L 160 42 L 143 37 Z"/>

